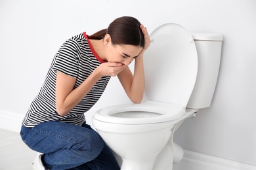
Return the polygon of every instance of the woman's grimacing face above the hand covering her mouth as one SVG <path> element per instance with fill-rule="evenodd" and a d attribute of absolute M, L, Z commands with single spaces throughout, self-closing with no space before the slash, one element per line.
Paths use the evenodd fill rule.
<path fill-rule="evenodd" d="M 141 46 L 127 44 L 113 45 L 111 41 L 108 41 L 105 57 L 108 62 L 129 65 L 133 59 L 139 56 L 141 50 Z"/>

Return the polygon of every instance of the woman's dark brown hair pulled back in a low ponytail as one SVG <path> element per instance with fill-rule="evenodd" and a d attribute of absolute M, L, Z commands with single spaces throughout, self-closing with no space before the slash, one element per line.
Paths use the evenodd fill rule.
<path fill-rule="evenodd" d="M 131 16 L 116 18 L 108 29 L 102 29 L 90 36 L 90 39 L 104 39 L 109 34 L 112 44 L 129 44 L 144 47 L 144 35 L 140 22 Z"/>

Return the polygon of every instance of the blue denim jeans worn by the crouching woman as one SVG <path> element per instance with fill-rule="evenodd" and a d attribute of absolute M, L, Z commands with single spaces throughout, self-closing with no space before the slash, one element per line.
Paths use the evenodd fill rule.
<path fill-rule="evenodd" d="M 20 135 L 32 150 L 43 154 L 48 169 L 120 169 L 110 148 L 91 126 L 44 122 L 22 126 Z"/>

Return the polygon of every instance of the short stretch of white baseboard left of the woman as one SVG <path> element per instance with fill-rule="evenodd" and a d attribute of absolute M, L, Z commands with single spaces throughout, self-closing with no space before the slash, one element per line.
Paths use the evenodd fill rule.
<path fill-rule="evenodd" d="M 0 128 L 19 133 L 24 114 L 0 110 Z"/>

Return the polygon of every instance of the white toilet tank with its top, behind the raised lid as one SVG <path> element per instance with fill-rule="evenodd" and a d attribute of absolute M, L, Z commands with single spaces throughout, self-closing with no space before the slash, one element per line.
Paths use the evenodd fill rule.
<path fill-rule="evenodd" d="M 186 108 L 209 107 L 219 75 L 223 36 L 218 33 L 192 33 L 198 52 L 196 84 Z"/>

